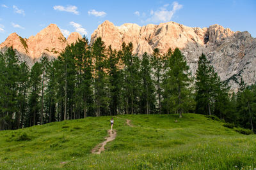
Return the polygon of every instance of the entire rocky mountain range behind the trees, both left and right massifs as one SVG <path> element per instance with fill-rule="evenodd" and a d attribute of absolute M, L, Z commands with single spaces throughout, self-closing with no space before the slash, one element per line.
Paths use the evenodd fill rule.
<path fill-rule="evenodd" d="M 105 21 L 93 32 L 90 43 L 98 37 L 106 46 L 111 45 L 116 50 L 120 50 L 123 42 L 132 42 L 133 52 L 138 55 L 151 54 L 154 48 L 159 48 L 162 54 L 168 48 L 180 48 L 192 74 L 195 74 L 199 56 L 205 53 L 221 80 L 227 80 L 235 91 L 241 77 L 248 85 L 256 81 L 256 38 L 247 31 L 234 32 L 218 24 L 200 28 L 166 22 L 141 27 L 137 24 L 115 26 Z M 72 32 L 66 39 L 56 24 L 50 24 L 28 39 L 16 33 L 10 34 L 1 43 L 0 50 L 13 46 L 19 60 L 33 66 L 44 56 L 50 59 L 58 57 L 67 45 L 79 38 L 78 32 Z"/>

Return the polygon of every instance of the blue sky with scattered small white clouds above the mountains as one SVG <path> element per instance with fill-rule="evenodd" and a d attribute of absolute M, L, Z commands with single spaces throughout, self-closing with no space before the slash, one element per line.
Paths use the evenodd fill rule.
<path fill-rule="evenodd" d="M 219 24 L 232 31 L 248 31 L 256 38 L 256 1 L 0 0 L 0 43 L 12 32 L 22 38 L 35 36 L 49 24 L 58 25 L 66 38 L 76 31 L 90 39 L 105 20 L 118 26 L 169 21 L 202 28 Z"/>

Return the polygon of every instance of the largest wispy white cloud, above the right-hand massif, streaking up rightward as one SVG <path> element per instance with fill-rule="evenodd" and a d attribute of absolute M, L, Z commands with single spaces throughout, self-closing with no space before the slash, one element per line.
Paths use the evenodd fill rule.
<path fill-rule="evenodd" d="M 165 4 L 162 8 L 160 8 L 157 11 L 150 11 L 150 15 L 152 17 L 148 18 L 146 22 L 168 22 L 172 19 L 173 14 L 177 11 L 180 10 L 183 6 L 182 4 L 179 4 L 177 2 L 172 3 L 172 10 L 167 10 L 166 7 L 168 7 L 169 4 Z"/>

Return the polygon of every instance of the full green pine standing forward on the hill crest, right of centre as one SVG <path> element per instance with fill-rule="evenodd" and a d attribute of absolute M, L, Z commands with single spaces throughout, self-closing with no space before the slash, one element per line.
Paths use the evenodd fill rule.
<path fill-rule="evenodd" d="M 191 104 L 191 87 L 189 87 L 192 83 L 191 72 L 179 48 L 172 53 L 169 64 L 167 87 L 170 90 L 170 98 L 168 100 L 172 110 L 182 117 L 182 113 L 188 111 Z"/>

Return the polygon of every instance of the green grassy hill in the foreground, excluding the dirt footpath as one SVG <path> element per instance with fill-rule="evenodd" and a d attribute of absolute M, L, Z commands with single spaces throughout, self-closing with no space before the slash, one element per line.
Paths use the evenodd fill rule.
<path fill-rule="evenodd" d="M 108 136 L 110 118 L 1 131 L 0 169 L 256 168 L 255 135 L 195 114 L 119 116 L 114 118 L 116 139 L 100 155 L 90 153 Z"/>

